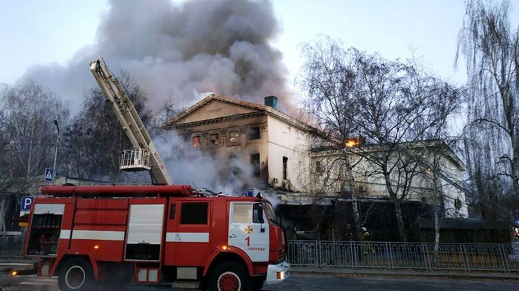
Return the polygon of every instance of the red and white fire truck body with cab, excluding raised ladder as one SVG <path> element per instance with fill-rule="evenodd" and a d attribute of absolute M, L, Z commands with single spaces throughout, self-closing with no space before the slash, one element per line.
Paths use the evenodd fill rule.
<path fill-rule="evenodd" d="M 290 274 L 285 233 L 261 197 L 189 185 L 44 186 L 30 210 L 26 257 L 61 290 L 125 283 L 261 290 Z"/>

